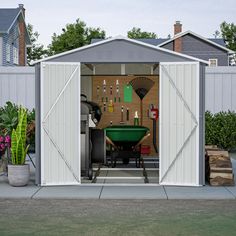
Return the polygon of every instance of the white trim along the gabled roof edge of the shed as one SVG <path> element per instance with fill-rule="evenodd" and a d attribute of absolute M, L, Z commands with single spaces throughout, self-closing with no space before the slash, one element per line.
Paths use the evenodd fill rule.
<path fill-rule="evenodd" d="M 187 59 L 188 61 L 189 60 L 198 61 L 198 62 L 201 62 L 201 63 L 204 63 L 204 64 L 208 64 L 207 61 L 201 60 L 201 59 L 196 58 L 196 57 L 192 57 L 192 56 L 188 56 L 188 55 L 185 55 L 185 54 L 177 53 L 177 52 L 165 49 L 165 48 L 161 48 L 161 47 L 158 47 L 158 46 L 154 46 L 154 45 L 147 44 L 147 43 L 144 43 L 144 42 L 141 42 L 141 41 L 138 41 L 138 40 L 126 38 L 126 37 L 123 37 L 123 36 L 117 36 L 117 37 L 113 37 L 113 38 L 109 38 L 109 39 L 100 40 L 96 43 L 89 44 L 89 45 L 86 45 L 86 46 L 83 46 L 83 47 L 80 47 L 80 48 L 72 49 L 70 51 L 62 52 L 62 53 L 59 53 L 57 55 L 53 55 L 53 56 L 50 56 L 50 57 L 47 57 L 47 58 L 43 58 L 43 59 L 38 60 L 38 61 L 34 61 L 32 63 L 32 65 L 37 64 L 39 62 L 43 62 L 43 61 L 55 60 L 55 59 L 58 59 L 59 57 L 68 56 L 69 54 L 72 55 L 72 54 L 77 53 L 77 52 L 82 53 L 87 49 L 97 48 L 99 46 L 102 46 L 104 44 L 108 44 L 110 42 L 121 42 L 121 41 L 126 42 L 126 43 L 130 43 L 131 45 L 142 46 L 144 48 L 151 49 L 153 51 L 160 52 L 160 53 L 165 54 L 165 55 L 169 55 L 170 57 L 181 58 L 181 60 Z M 99 56 L 99 58 L 101 58 L 101 56 Z M 94 62 L 96 62 L 96 61 L 94 61 Z"/>

